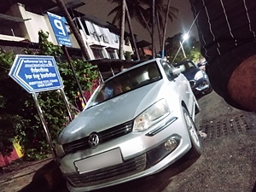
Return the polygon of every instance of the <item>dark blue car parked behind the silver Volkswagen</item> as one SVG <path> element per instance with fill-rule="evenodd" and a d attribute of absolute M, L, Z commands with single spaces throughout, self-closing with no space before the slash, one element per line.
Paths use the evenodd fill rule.
<path fill-rule="evenodd" d="M 175 67 L 189 80 L 189 84 L 195 96 L 201 96 L 212 92 L 212 86 L 207 73 L 197 67 L 193 61 L 187 60 L 177 63 Z"/>

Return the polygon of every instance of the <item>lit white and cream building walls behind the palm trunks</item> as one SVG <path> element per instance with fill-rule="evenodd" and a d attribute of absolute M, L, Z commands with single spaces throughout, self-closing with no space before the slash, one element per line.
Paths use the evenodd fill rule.
<path fill-rule="evenodd" d="M 22 19 L 26 20 L 24 23 L 20 23 L 20 38 L 26 38 L 31 42 L 38 43 L 38 32 L 43 30 L 44 32 L 49 32 L 48 40 L 53 44 L 57 44 L 55 33 L 49 23 L 48 15 L 37 15 L 33 14 L 32 12 L 26 11 L 26 7 L 23 4 L 17 3 L 15 4 L 10 10 L 9 15 L 14 15 L 17 17 L 21 17 Z M 29 19 L 29 20 L 27 20 Z M 119 36 L 110 32 L 108 28 L 97 26 L 95 23 L 92 23 L 90 20 L 80 20 L 83 22 L 90 33 L 90 35 L 86 34 L 82 26 L 82 30 L 80 29 L 80 33 L 82 38 L 84 39 L 84 44 L 88 49 L 88 53 L 90 55 L 90 59 L 95 59 L 90 46 L 98 45 L 102 47 L 102 54 L 105 58 L 108 58 L 108 50 L 107 48 L 115 49 L 116 53 L 119 49 Z M 70 30 L 68 30 L 70 31 Z M 96 38 L 94 38 L 93 34 L 95 33 Z M 76 41 L 72 32 L 69 32 L 69 36 L 74 48 L 79 48 L 79 44 Z M 104 38 L 103 38 L 104 37 Z M 2 37 L 4 38 L 4 37 Z M 131 46 L 127 46 L 124 44 L 124 52 L 128 51 L 133 53 Z M 116 54 L 118 58 L 118 55 Z"/>

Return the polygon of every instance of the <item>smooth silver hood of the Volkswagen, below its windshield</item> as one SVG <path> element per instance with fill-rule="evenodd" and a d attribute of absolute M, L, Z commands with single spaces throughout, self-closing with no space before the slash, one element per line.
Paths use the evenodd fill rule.
<path fill-rule="evenodd" d="M 61 132 L 59 143 L 69 143 L 137 117 L 156 102 L 163 80 L 85 109 Z"/>

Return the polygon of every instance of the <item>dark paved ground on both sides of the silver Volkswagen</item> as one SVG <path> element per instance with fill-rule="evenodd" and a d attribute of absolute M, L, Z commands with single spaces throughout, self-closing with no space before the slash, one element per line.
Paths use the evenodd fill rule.
<path fill-rule="evenodd" d="M 231 108 L 214 92 L 199 99 L 204 152 L 163 172 L 97 192 L 256 192 L 256 113 Z M 52 160 L 0 174 L 1 192 L 66 192 Z"/>

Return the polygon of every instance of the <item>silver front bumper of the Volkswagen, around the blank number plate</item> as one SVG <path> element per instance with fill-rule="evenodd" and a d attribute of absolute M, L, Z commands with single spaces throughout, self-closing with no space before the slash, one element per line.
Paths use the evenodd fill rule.
<path fill-rule="evenodd" d="M 183 117 L 180 114 L 178 116 Z M 144 131 L 143 135 L 131 133 L 138 136 L 126 140 L 123 138 L 125 140 L 123 143 L 114 144 L 114 141 L 108 143 L 112 148 L 120 148 L 124 161 L 119 165 L 79 174 L 73 162 L 79 160 L 83 152 L 65 156 L 61 160 L 61 171 L 64 171 L 63 174 L 67 179 L 67 188 L 73 192 L 101 189 L 145 177 L 170 166 L 191 148 L 183 118 L 174 120 L 173 118 L 172 116 L 166 122 L 160 122 L 161 125 L 154 125 L 150 130 Z M 165 143 L 169 139 L 177 141 L 177 148 L 173 151 L 166 150 Z"/>

